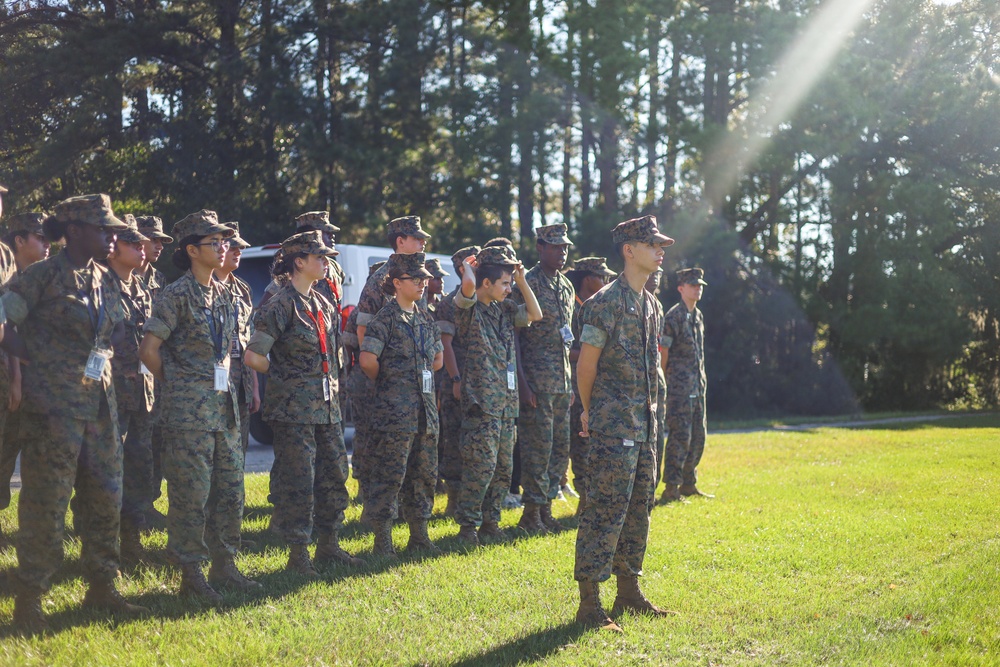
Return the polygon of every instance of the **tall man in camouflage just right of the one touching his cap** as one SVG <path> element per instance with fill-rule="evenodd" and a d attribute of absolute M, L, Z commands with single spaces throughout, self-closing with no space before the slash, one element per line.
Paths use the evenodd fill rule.
<path fill-rule="evenodd" d="M 517 330 L 517 420 L 521 457 L 524 513 L 518 526 L 529 533 L 561 532 L 552 517 L 552 501 L 569 464 L 569 404 L 572 370 L 569 350 L 573 343 L 573 301 L 576 291 L 562 271 L 572 242 L 566 225 L 535 230 L 538 264 L 524 278 L 538 299 L 542 319 Z M 511 294 L 520 303 L 517 287 Z"/>

